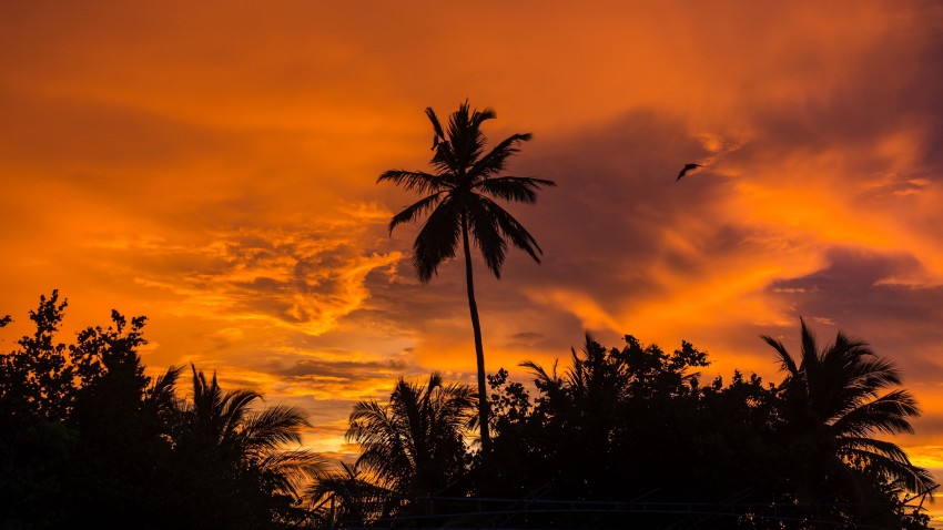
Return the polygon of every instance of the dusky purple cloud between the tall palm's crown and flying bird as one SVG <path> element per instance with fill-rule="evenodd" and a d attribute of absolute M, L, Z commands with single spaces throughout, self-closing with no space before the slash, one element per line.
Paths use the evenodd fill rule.
<path fill-rule="evenodd" d="M 531 272 L 526 258 L 509 261 L 509 275 L 536 286 L 579 284 L 604 300 L 618 294 L 616 278 L 628 283 L 619 286 L 627 292 L 652 288 L 645 278 L 630 279 L 628 263 L 667 255 L 680 267 L 697 266 L 659 237 L 679 215 L 697 216 L 721 193 L 700 182 L 712 177 L 709 171 L 676 182 L 685 163 L 707 154 L 680 120 L 638 111 L 544 145 L 535 141 L 534 147 L 520 155 L 520 172 L 558 187 L 516 213 L 541 242 L 545 264 Z"/>

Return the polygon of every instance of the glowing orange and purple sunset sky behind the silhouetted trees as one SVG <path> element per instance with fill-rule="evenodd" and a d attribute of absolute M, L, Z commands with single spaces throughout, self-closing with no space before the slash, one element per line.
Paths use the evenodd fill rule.
<path fill-rule="evenodd" d="M 566 361 L 586 330 L 780 381 L 802 316 L 895 360 L 900 437 L 943 480 L 943 3 L 0 3 L 0 350 L 60 289 L 62 339 L 146 315 L 149 369 L 307 410 L 343 445 L 399 376 L 474 381 L 462 263 L 413 275 L 415 200 L 467 98 L 545 252 L 478 264 L 487 368 Z M 706 167 L 675 177 L 685 163 Z"/>

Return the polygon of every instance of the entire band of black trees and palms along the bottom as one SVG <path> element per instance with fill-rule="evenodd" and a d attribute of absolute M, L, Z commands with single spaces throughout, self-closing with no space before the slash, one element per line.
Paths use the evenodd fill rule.
<path fill-rule="evenodd" d="M 41 297 L 0 354 L 0 528 L 925 528 L 936 486 L 880 438 L 919 414 L 894 365 L 804 323 L 798 354 L 763 337 L 779 384 L 701 381 L 704 351 L 632 336 L 524 363 L 533 387 L 501 369 L 487 451 L 476 389 L 399 380 L 331 463 L 286 449 L 295 409 L 193 366 L 146 376 L 143 317 L 59 343 L 64 308 Z"/>

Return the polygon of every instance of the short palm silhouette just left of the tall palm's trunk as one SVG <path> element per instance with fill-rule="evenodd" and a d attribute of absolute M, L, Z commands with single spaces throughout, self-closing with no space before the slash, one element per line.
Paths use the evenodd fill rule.
<path fill-rule="evenodd" d="M 393 491 L 436 493 L 453 486 L 466 465 L 464 432 L 474 418 L 472 387 L 445 385 L 439 374 L 425 386 L 399 379 L 389 402 L 358 401 L 347 439 L 361 446 L 357 466 Z"/>

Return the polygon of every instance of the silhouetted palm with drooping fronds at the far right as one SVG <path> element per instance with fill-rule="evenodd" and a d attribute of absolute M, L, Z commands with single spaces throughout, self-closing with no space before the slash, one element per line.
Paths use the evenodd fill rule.
<path fill-rule="evenodd" d="M 783 420 L 801 451 L 809 473 L 807 485 L 824 483 L 823 475 L 843 477 L 859 499 L 866 490 L 888 483 L 925 493 L 935 483 L 930 473 L 911 463 L 896 445 L 875 435 L 913 432 L 910 418 L 917 417 L 916 400 L 905 389 L 884 393 L 901 384 L 891 360 L 878 357 L 868 344 L 841 332 L 835 342 L 819 349 L 815 337 L 802 324 L 802 353 L 794 359 L 782 343 L 763 335 L 779 355 L 787 373 L 780 386 Z M 884 394 L 882 394 L 884 393 Z M 875 483 L 884 482 L 884 483 Z M 813 493 L 815 487 L 805 495 Z M 821 492 L 821 491 L 820 491 Z"/>

